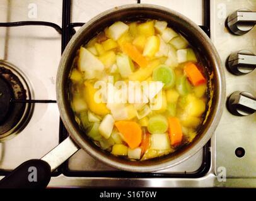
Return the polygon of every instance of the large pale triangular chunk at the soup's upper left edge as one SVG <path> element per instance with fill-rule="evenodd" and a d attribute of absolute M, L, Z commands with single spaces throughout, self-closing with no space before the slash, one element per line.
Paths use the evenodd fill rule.
<path fill-rule="evenodd" d="M 86 48 L 81 47 L 79 51 L 78 68 L 81 71 L 102 71 L 104 69 L 104 65 L 102 62 L 100 62 L 100 60 L 98 60 L 98 58 L 95 57 L 95 55 L 86 50 Z"/>

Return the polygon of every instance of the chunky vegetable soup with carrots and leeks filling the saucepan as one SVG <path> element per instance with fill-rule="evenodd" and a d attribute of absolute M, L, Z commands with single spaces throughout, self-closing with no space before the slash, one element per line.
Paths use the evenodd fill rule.
<path fill-rule="evenodd" d="M 166 21 L 117 21 L 81 46 L 69 95 L 84 136 L 128 160 L 193 141 L 207 107 L 200 55 Z"/>

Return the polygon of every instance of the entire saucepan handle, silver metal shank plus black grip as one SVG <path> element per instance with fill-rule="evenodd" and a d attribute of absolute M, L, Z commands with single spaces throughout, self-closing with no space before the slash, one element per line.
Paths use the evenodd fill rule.
<path fill-rule="evenodd" d="M 28 160 L 0 181 L 0 188 L 45 188 L 51 172 L 79 150 L 70 137 L 41 159 Z"/>

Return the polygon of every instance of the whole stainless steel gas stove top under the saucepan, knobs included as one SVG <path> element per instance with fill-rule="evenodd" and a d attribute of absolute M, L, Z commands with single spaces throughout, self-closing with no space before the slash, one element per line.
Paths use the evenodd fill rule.
<path fill-rule="evenodd" d="M 19 106 L 21 112 L 9 124 L 18 126 L 4 130 L 0 123 L 0 178 L 68 136 L 55 102 L 55 78 L 61 52 L 75 31 L 106 9 L 149 3 L 185 14 L 211 36 L 223 62 L 227 95 L 216 133 L 189 160 L 154 173 L 118 171 L 79 150 L 54 171 L 49 187 L 256 187 L 255 13 L 230 15 L 238 9 L 256 11 L 255 0 L 2 1 L 0 67 L 21 80 L 26 101 L 6 97 L 12 100 L 6 107 Z M 236 26 L 238 20 L 242 25 Z M 0 107 L 0 122 L 6 107 Z"/>

